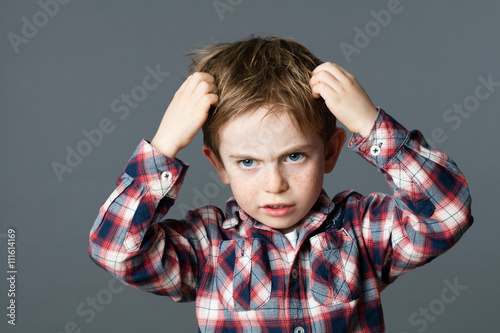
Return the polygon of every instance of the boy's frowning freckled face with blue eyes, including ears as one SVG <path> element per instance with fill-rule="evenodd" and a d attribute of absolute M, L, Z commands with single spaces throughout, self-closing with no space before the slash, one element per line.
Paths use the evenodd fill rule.
<path fill-rule="evenodd" d="M 220 130 L 221 161 L 208 148 L 203 151 L 248 215 L 286 233 L 318 199 L 345 131 L 338 129 L 325 149 L 317 133 L 302 134 L 286 113 L 267 112 L 246 112 Z"/>

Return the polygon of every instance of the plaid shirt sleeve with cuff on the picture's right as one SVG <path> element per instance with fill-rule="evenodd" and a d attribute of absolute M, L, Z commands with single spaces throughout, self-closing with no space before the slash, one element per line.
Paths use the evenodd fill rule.
<path fill-rule="evenodd" d="M 349 147 L 377 167 L 394 189 L 356 200 L 353 222 L 377 276 L 390 283 L 451 248 L 473 222 L 464 175 L 384 110 L 368 136 Z"/>

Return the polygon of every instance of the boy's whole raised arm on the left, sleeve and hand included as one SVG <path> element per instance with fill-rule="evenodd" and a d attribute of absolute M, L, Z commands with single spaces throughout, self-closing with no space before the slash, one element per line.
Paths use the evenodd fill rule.
<path fill-rule="evenodd" d="M 196 211 L 182 221 L 164 216 L 188 168 L 175 156 L 217 103 L 214 82 L 209 74 L 195 73 L 182 84 L 155 138 L 151 144 L 140 142 L 90 232 L 89 254 L 96 264 L 127 284 L 174 301 L 196 297 L 207 237 Z"/>

